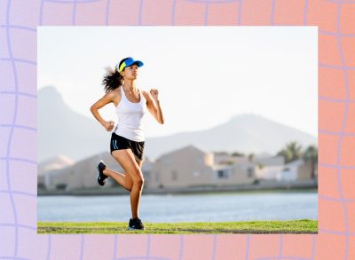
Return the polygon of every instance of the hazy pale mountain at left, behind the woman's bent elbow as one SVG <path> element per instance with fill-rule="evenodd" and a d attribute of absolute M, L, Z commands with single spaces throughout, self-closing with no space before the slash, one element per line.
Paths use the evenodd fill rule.
<path fill-rule="evenodd" d="M 37 115 L 39 162 L 58 154 L 76 161 L 109 148 L 111 134 L 67 106 L 54 87 L 38 91 Z"/>

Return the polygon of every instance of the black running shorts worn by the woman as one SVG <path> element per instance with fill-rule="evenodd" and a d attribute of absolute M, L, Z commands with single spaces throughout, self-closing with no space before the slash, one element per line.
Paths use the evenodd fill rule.
<path fill-rule="evenodd" d="M 112 154 L 112 152 L 114 152 L 115 150 L 130 149 L 132 150 L 132 153 L 136 157 L 136 160 L 142 161 L 144 145 L 145 142 L 135 142 L 130 139 L 123 138 L 119 135 L 116 135 L 113 132 L 111 136 L 110 150 Z"/>

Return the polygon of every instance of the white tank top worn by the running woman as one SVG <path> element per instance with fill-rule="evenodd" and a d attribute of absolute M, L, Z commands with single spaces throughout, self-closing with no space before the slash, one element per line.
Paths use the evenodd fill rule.
<path fill-rule="evenodd" d="M 139 91 L 139 102 L 133 103 L 126 98 L 126 94 L 121 87 L 122 98 L 120 104 L 116 106 L 118 123 L 114 129 L 117 135 L 136 142 L 145 140 L 143 130 L 143 117 L 146 114 L 146 98 Z"/>

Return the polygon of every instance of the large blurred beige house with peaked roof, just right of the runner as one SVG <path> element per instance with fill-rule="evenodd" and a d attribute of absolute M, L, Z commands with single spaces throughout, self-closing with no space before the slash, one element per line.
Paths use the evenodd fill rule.
<path fill-rule="evenodd" d="M 256 179 L 255 164 L 248 158 L 215 164 L 214 154 L 186 146 L 164 154 L 155 163 L 149 187 L 188 187 L 203 185 L 244 185 Z"/>

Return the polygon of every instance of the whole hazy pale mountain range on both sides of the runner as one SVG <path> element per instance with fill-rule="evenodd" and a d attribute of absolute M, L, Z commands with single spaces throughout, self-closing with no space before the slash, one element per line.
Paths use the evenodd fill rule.
<path fill-rule="evenodd" d="M 111 133 L 93 118 L 76 113 L 54 87 L 38 91 L 38 161 L 59 154 L 78 161 L 109 149 Z M 240 114 L 209 130 L 146 139 L 146 156 L 157 158 L 193 145 L 205 151 L 275 154 L 290 141 L 316 145 L 317 138 L 255 114 Z"/>

